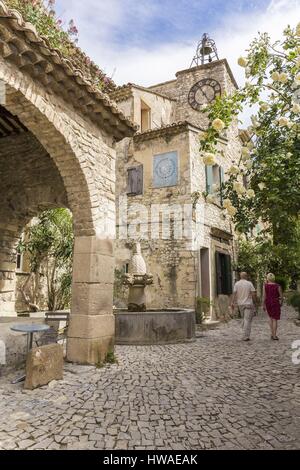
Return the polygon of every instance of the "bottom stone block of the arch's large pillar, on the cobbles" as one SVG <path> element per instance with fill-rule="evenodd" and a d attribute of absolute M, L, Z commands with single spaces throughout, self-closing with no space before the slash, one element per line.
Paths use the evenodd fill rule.
<path fill-rule="evenodd" d="M 102 338 L 68 338 L 67 360 L 77 364 L 99 364 L 114 348 L 114 336 Z"/>

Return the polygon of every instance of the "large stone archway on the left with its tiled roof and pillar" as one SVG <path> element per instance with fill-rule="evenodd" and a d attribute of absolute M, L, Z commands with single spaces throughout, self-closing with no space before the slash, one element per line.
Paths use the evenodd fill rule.
<path fill-rule="evenodd" d="M 0 276 L 6 273 L 2 284 L 7 289 L 26 219 L 49 206 L 69 207 L 75 248 L 67 357 L 93 364 L 104 359 L 114 342 L 114 142 L 132 135 L 134 128 L 31 25 L 14 16 L 4 9 L 0 17 L 0 80 L 6 88 L 4 109 L 24 132 L 16 132 L 5 151 L 2 146 L 6 183 L 0 205 Z M 17 156 L 15 144 L 22 148 Z M 28 154 L 35 155 L 32 168 L 26 167 Z M 27 183 L 20 188 L 8 158 L 25 175 Z M 0 287 L 0 297 L 4 294 Z"/>

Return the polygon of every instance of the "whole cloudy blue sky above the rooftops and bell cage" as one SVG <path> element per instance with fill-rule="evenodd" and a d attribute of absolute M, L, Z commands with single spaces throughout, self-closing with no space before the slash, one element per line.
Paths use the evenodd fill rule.
<path fill-rule="evenodd" d="M 79 46 L 116 83 L 151 85 L 189 67 L 204 32 L 216 41 L 237 81 L 237 58 L 258 31 L 280 38 L 300 21 L 299 0 L 57 0 L 79 28 Z"/>

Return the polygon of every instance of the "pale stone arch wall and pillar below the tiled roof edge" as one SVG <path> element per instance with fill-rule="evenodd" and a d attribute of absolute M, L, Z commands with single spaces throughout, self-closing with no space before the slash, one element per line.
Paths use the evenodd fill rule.
<path fill-rule="evenodd" d="M 29 131 L 2 140 L 0 315 L 15 311 L 16 245 L 25 224 L 43 209 L 67 206 L 75 232 L 67 355 L 73 362 L 101 362 L 114 342 L 115 136 L 78 112 L 77 96 L 66 101 L 50 93 L 44 82 L 3 57 L 0 79 L 6 84 L 6 110 Z M 122 128 L 109 106 L 107 119 Z"/>

